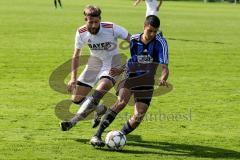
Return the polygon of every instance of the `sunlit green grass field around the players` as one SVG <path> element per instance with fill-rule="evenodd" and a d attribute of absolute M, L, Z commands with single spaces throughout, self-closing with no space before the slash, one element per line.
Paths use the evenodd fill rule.
<path fill-rule="evenodd" d="M 148 111 L 153 117 L 127 137 L 122 152 L 111 152 L 89 145 L 95 132 L 90 120 L 60 131 L 55 108 L 70 95 L 54 91 L 49 77 L 71 58 L 86 4 L 99 5 L 103 21 L 131 33 L 142 31 L 145 5 L 62 3 L 55 9 L 53 1 L 0 1 L 0 159 L 240 159 L 239 5 L 164 2 L 159 16 L 173 90 L 154 97 Z M 73 105 L 71 112 L 76 110 Z M 132 110 L 127 107 L 107 131 L 121 129 Z"/>

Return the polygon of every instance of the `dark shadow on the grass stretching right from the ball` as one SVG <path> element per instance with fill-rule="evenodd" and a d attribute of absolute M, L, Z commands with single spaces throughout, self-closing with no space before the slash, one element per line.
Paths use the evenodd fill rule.
<path fill-rule="evenodd" d="M 75 139 L 80 143 L 89 144 L 89 139 Z M 240 152 L 209 147 L 200 145 L 190 144 L 176 144 L 159 141 L 144 141 L 139 135 L 128 135 L 127 146 L 132 146 L 133 149 L 124 148 L 118 153 L 127 154 L 156 154 L 159 156 L 184 156 L 184 157 L 198 157 L 198 158 L 229 158 L 229 159 L 240 159 Z M 137 147 L 137 148 L 136 148 Z M 141 147 L 140 149 L 138 149 Z M 104 152 L 109 152 L 109 149 L 96 148 Z"/>

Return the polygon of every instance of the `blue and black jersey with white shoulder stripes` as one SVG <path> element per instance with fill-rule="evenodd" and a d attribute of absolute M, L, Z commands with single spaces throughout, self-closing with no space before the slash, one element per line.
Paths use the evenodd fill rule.
<path fill-rule="evenodd" d="M 161 33 L 148 44 L 141 41 L 142 34 L 131 37 L 130 52 L 128 60 L 128 74 L 130 77 L 143 75 L 146 71 L 155 74 L 158 64 L 168 64 L 168 45 Z"/>

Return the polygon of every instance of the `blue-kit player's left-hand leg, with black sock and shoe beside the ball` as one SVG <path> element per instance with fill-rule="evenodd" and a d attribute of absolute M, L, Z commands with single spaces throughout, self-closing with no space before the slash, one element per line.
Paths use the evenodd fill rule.
<path fill-rule="evenodd" d="M 119 90 L 116 103 L 106 111 L 96 134 L 92 137 L 90 141 L 93 146 L 102 147 L 105 145 L 101 139 L 103 131 L 113 122 L 117 114 L 127 105 L 130 97 L 131 91 L 129 89 L 121 88 Z"/>

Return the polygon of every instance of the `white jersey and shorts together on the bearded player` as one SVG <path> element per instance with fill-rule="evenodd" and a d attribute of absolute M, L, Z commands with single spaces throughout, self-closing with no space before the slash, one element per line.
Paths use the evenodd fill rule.
<path fill-rule="evenodd" d="M 96 35 L 89 33 L 86 26 L 80 27 L 75 37 L 75 48 L 81 49 L 84 44 L 87 44 L 91 56 L 78 81 L 91 87 L 102 77 L 110 77 L 116 81 L 118 76 L 110 76 L 109 70 L 112 67 L 121 66 L 117 39 L 127 39 L 127 36 L 126 29 L 109 22 L 100 23 L 100 29 Z"/>

